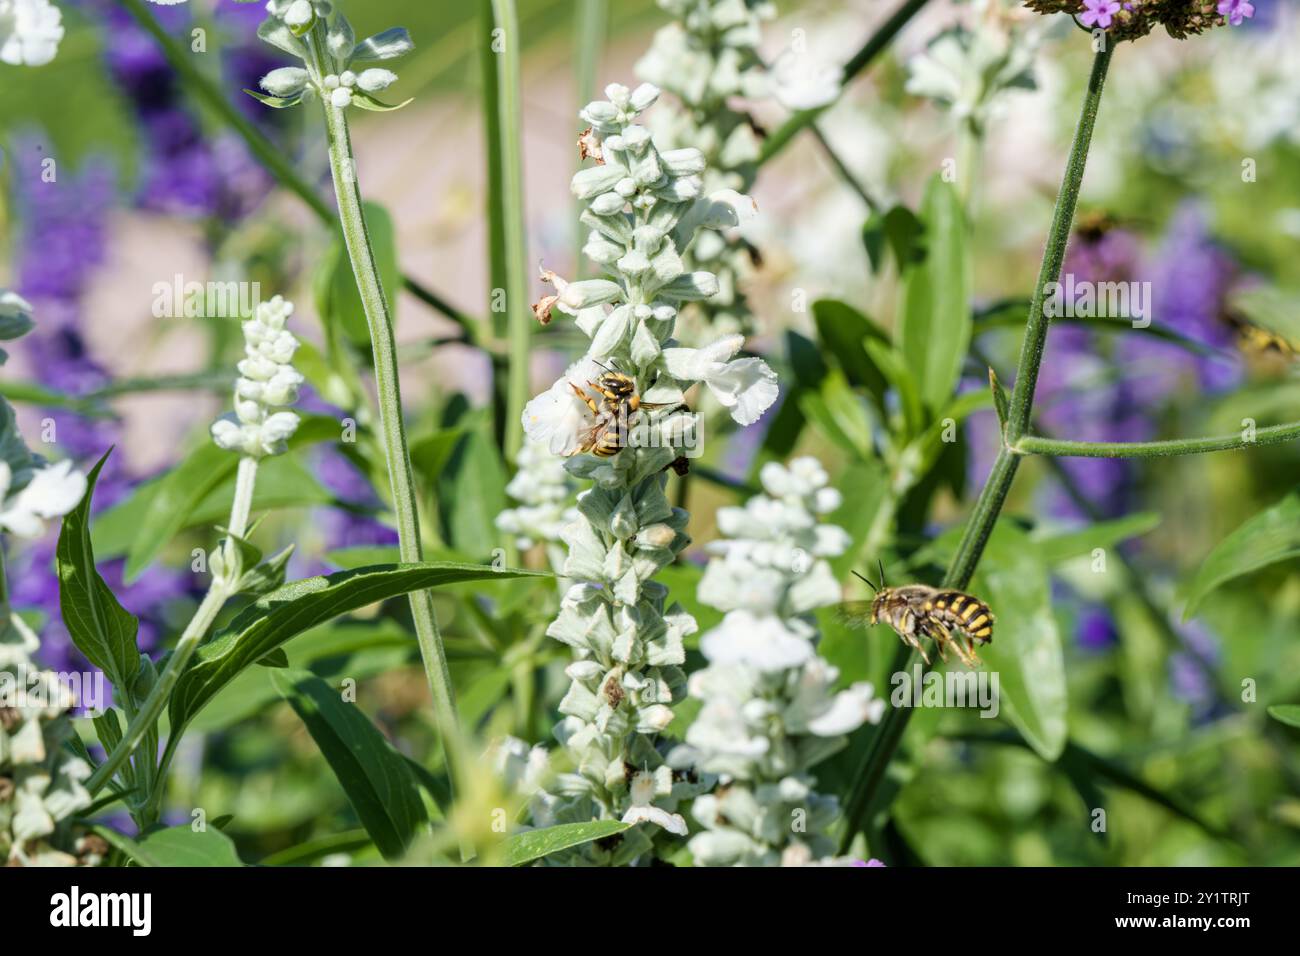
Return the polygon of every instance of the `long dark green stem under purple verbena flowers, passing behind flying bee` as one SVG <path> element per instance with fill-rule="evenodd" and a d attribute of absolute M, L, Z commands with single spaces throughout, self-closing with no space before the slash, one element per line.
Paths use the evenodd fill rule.
<path fill-rule="evenodd" d="M 1006 502 L 1006 496 L 1011 490 L 1015 480 L 1015 471 L 1019 467 L 1020 457 L 1010 450 L 1011 429 L 1019 438 L 1028 428 L 1030 416 L 1034 412 L 1034 385 L 1039 377 L 1039 367 L 1043 363 L 1043 350 L 1046 343 L 1048 317 L 1043 312 L 1043 289 L 1061 277 L 1061 263 L 1065 259 L 1065 247 L 1070 241 L 1070 226 L 1074 222 L 1074 209 L 1079 199 L 1079 186 L 1083 182 L 1083 172 L 1088 160 L 1088 147 L 1092 142 L 1092 130 L 1097 118 L 1097 108 L 1101 104 L 1101 91 L 1106 79 L 1106 70 L 1110 66 L 1110 57 L 1114 47 L 1108 43 L 1092 62 L 1092 74 L 1088 78 L 1088 90 L 1083 99 L 1083 108 L 1079 114 L 1079 125 L 1074 134 L 1074 143 L 1070 147 L 1070 159 L 1066 161 L 1065 176 L 1061 181 L 1061 193 L 1057 196 L 1056 211 L 1052 216 L 1052 228 L 1048 233 L 1046 248 L 1043 252 L 1043 265 L 1039 269 L 1039 284 L 1034 290 L 1034 300 L 1030 306 L 1030 315 L 1026 321 L 1024 343 L 1020 347 L 1020 362 L 1015 376 L 1015 388 L 1011 393 L 1009 420 L 1006 424 L 1008 438 L 993 462 L 988 480 L 980 492 L 979 499 L 971 511 L 966 528 L 962 532 L 961 542 L 953 555 L 948 572 L 944 575 L 942 587 L 965 588 L 970 584 L 984 554 L 997 518 Z M 919 661 L 919 654 L 906 648 L 900 648 L 894 656 L 894 670 L 909 670 Z M 880 780 L 884 779 L 885 770 L 898 744 L 902 741 L 907 721 L 911 718 L 911 708 L 890 708 L 863 757 L 862 767 L 854 779 L 853 790 L 845 803 L 845 830 L 841 842 L 841 852 L 846 852 L 853 843 L 853 838 L 861 832 L 868 819 L 872 799 Z"/>

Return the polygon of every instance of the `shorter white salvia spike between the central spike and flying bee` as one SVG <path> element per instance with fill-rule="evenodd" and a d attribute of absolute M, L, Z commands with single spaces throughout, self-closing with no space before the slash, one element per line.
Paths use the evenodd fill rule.
<path fill-rule="evenodd" d="M 884 713 L 870 684 L 836 692 L 838 671 L 815 649 L 807 613 L 840 600 L 827 558 L 849 546 L 842 529 L 818 520 L 838 506 L 826 470 L 798 458 L 759 477 L 766 494 L 719 510 L 731 537 L 710 545 L 698 597 L 727 614 L 699 641 L 708 666 L 689 691 L 702 706 L 670 754 L 677 769 L 727 782 L 692 805 L 705 830 L 689 845 L 705 866 L 832 861 L 838 806 L 814 791 L 811 767 Z M 798 834 L 788 826 L 796 809 L 807 814 Z"/>

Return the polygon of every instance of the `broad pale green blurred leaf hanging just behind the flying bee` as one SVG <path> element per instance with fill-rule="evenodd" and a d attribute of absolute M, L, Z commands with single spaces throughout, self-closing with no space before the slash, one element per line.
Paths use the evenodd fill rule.
<path fill-rule="evenodd" d="M 1067 735 L 1065 656 L 1052 614 L 1048 568 L 1037 545 L 1000 522 L 971 592 L 997 618 L 993 641 L 979 654 L 984 669 L 998 675 L 1008 719 L 1044 760 L 1056 760 Z"/>

